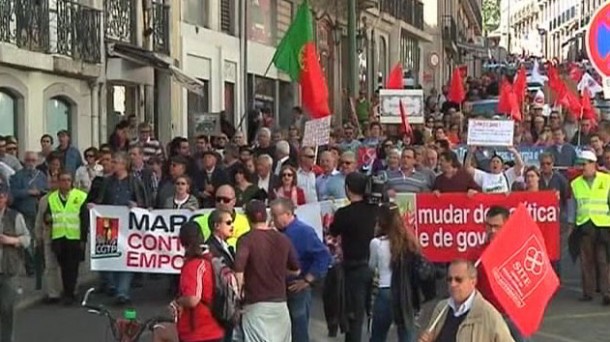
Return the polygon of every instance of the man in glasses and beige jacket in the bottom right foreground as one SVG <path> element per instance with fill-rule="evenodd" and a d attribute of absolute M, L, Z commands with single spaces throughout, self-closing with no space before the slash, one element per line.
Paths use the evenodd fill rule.
<path fill-rule="evenodd" d="M 450 297 L 436 305 L 431 325 L 419 342 L 513 341 L 502 315 L 476 290 L 476 285 L 476 267 L 469 261 L 452 261 L 447 273 Z M 433 325 L 439 315 L 440 320 Z"/>

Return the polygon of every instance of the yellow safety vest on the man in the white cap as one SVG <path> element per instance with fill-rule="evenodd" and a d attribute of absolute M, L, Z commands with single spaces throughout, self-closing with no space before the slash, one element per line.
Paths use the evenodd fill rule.
<path fill-rule="evenodd" d="M 597 227 L 610 228 L 610 175 L 597 172 L 592 186 L 583 176 L 572 181 L 572 194 L 576 200 L 576 225 L 581 226 L 589 220 Z"/>

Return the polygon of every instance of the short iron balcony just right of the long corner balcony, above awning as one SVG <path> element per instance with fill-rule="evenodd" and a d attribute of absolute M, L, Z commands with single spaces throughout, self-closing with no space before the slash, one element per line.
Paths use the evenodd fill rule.
<path fill-rule="evenodd" d="M 105 0 L 105 37 L 107 40 L 137 44 L 137 1 Z"/>

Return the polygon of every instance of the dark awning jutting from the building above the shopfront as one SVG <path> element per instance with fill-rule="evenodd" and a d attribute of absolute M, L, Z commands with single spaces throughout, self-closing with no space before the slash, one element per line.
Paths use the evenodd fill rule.
<path fill-rule="evenodd" d="M 160 71 L 169 72 L 174 80 L 180 83 L 184 88 L 199 94 L 200 96 L 204 95 L 203 82 L 185 74 L 180 68 L 174 66 L 174 60 L 170 57 L 164 57 L 153 51 L 148 51 L 141 47 L 125 43 L 108 44 L 108 55 L 120 57 L 134 63 L 148 65 Z"/>

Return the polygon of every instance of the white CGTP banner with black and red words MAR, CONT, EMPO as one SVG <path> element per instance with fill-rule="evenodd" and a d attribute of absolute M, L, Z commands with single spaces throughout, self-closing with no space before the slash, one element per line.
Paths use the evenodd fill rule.
<path fill-rule="evenodd" d="M 322 203 L 296 209 L 297 217 L 323 239 Z M 179 273 L 184 251 L 178 240 L 180 227 L 193 215 L 213 209 L 146 210 L 99 205 L 89 212 L 91 219 L 91 270 L 145 273 Z M 236 209 L 241 212 L 241 209 Z"/>

